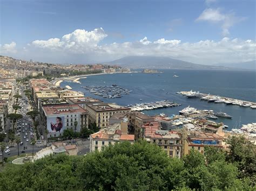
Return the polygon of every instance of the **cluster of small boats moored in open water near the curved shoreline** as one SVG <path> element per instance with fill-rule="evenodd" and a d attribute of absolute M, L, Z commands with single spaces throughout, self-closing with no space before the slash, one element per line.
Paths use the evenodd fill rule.
<path fill-rule="evenodd" d="M 90 93 L 104 98 L 119 98 L 123 95 L 128 95 L 132 90 L 122 88 L 117 86 L 117 84 L 112 84 L 112 86 L 81 86 Z"/>

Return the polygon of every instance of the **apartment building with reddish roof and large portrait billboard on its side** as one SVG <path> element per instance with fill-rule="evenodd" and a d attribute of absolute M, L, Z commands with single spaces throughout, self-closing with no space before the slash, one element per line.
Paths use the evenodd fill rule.
<path fill-rule="evenodd" d="M 77 104 L 48 105 L 42 109 L 42 121 L 49 131 L 48 137 L 62 136 L 65 129 L 80 132 L 83 126 L 88 128 L 88 112 Z"/>

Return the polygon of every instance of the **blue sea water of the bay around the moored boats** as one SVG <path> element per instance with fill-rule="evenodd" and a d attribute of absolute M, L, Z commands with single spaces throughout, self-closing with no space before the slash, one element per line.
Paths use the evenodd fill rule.
<path fill-rule="evenodd" d="M 137 70 L 138 72 L 139 70 Z M 164 69 L 161 73 L 117 73 L 87 76 L 80 79 L 81 84 L 62 82 L 62 87 L 70 86 L 73 90 L 82 91 L 85 96 L 95 97 L 108 103 L 127 106 L 136 103 L 169 100 L 180 103 L 179 107 L 144 110 L 144 114 L 154 116 L 164 113 L 171 116 L 188 107 L 226 112 L 232 119 L 221 118 L 215 122 L 228 125 L 227 130 L 239 128 L 242 124 L 256 122 L 256 109 L 226 105 L 225 103 L 211 103 L 200 98 L 187 98 L 176 94 L 177 91 L 200 91 L 204 94 L 219 95 L 244 101 L 256 102 L 256 72 L 235 70 L 196 70 L 196 69 Z M 173 77 L 178 75 L 179 77 Z M 117 84 L 132 92 L 120 98 L 103 98 L 90 93 L 82 86 L 112 86 Z M 213 120 L 213 119 L 212 119 Z"/>

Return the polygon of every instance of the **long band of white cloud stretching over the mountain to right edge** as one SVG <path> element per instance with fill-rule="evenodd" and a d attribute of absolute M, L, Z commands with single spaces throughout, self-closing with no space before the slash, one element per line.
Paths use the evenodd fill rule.
<path fill-rule="evenodd" d="M 133 42 L 99 45 L 106 36 L 107 34 L 101 28 L 90 32 L 75 30 L 64 35 L 62 39 L 35 40 L 31 46 L 27 47 L 26 52 L 35 52 L 38 58 L 51 55 L 52 60 L 65 63 L 67 60 L 84 63 L 114 60 L 128 55 L 169 56 L 201 64 L 243 62 L 255 59 L 256 43 L 250 39 L 225 37 L 219 41 L 200 40 L 196 43 L 181 43 L 179 39 L 150 40 L 144 37 Z M 35 50 L 33 46 L 43 50 Z"/>

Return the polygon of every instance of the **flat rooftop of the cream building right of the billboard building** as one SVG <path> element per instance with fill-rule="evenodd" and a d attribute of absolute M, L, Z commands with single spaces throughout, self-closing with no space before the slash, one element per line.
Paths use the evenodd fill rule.
<path fill-rule="evenodd" d="M 129 108 L 125 108 L 123 106 L 114 104 L 114 103 L 95 103 L 88 104 L 87 107 L 95 111 L 116 111 L 116 110 L 130 110 Z"/>

